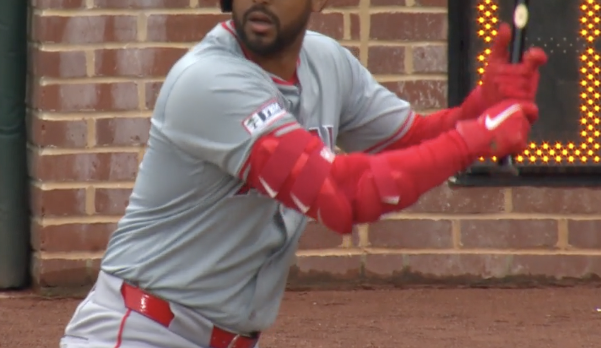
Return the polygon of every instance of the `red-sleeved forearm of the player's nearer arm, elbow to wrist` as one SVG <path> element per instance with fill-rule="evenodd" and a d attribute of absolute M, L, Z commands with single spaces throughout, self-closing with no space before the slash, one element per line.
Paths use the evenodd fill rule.
<path fill-rule="evenodd" d="M 354 223 L 377 221 L 386 213 L 412 206 L 421 195 L 467 168 L 477 158 L 462 136 L 450 130 L 419 145 L 365 156 L 337 157 L 332 176 L 341 189 L 353 192 Z M 356 163 L 364 168 L 356 169 Z M 346 180 L 349 176 L 359 179 Z"/>

